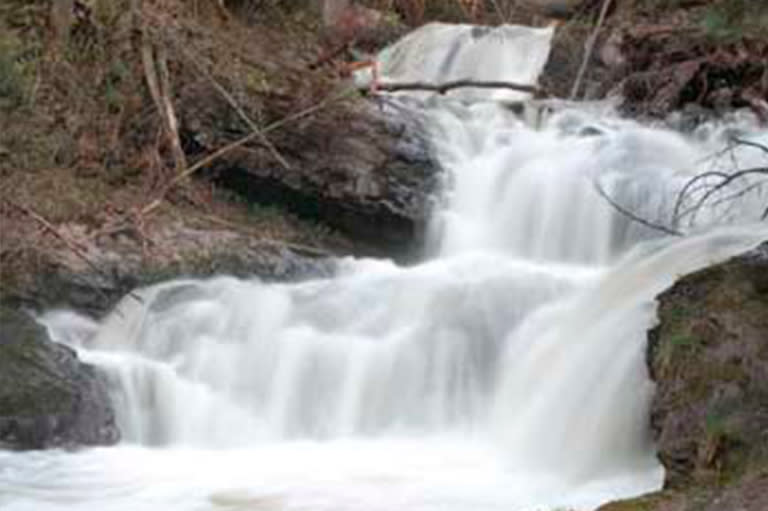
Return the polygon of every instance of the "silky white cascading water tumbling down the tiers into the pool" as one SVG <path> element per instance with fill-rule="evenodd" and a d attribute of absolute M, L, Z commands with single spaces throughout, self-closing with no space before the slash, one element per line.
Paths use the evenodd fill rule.
<path fill-rule="evenodd" d="M 443 69 L 476 58 L 468 30 Z M 533 79 L 548 38 L 526 30 L 511 30 L 527 49 L 509 62 Z M 682 135 L 586 106 L 537 129 L 493 103 L 425 109 L 447 177 L 426 262 L 345 259 L 298 284 L 169 282 L 101 323 L 48 313 L 54 338 L 109 375 L 125 440 L 0 453 L 0 507 L 534 511 L 658 488 L 653 297 L 765 239 L 747 224 L 765 196 L 702 211 L 673 240 L 597 189 L 668 219 L 691 175 L 764 163 L 749 147 L 712 156 L 729 130 L 768 137 L 746 121 Z"/>

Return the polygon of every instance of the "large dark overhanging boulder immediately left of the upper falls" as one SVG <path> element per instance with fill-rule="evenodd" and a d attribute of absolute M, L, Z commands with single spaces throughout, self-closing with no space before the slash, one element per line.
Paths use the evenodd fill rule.
<path fill-rule="evenodd" d="M 188 152 L 208 154 L 250 132 L 219 98 L 184 104 Z M 350 100 L 270 133 L 272 148 L 223 155 L 212 177 L 250 201 L 337 229 L 363 254 L 408 258 L 420 248 L 438 181 L 421 133 L 402 108 Z"/>

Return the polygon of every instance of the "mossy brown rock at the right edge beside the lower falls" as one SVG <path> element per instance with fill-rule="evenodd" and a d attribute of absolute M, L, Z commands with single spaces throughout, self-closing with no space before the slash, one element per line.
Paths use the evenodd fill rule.
<path fill-rule="evenodd" d="M 601 511 L 768 509 L 768 242 L 658 302 L 648 364 L 665 491 Z"/>

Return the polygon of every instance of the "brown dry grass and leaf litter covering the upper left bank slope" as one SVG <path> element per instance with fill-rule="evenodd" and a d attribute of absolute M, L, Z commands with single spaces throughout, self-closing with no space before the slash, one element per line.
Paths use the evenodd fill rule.
<path fill-rule="evenodd" d="M 232 200 L 203 180 L 186 181 L 147 218 L 135 217 L 177 172 L 146 87 L 142 38 L 168 54 L 177 109 L 195 101 L 191 92 L 217 94 L 213 79 L 265 125 L 317 101 L 333 80 L 306 70 L 317 20 L 295 2 L 233 6 L 225 19 L 213 0 L 144 0 L 140 27 L 129 4 L 87 2 L 63 46 L 51 42 L 47 2 L 0 5 L 0 286 L 13 287 L 46 251 L 62 248 L 14 205 L 93 243 L 128 220 L 137 246 L 150 251 L 153 233 L 169 224 L 343 250 L 328 229 Z"/>

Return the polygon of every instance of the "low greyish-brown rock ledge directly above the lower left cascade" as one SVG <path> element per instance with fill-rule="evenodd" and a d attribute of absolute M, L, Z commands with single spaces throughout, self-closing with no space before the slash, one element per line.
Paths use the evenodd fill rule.
<path fill-rule="evenodd" d="M 329 276 L 335 269 L 329 254 L 227 230 L 164 224 L 152 239 L 149 254 L 119 237 L 90 241 L 90 264 L 66 249 L 38 253 L 35 271 L 3 290 L 0 304 L 40 312 L 68 308 L 99 317 L 133 289 L 165 280 L 231 275 L 286 282 Z"/>

